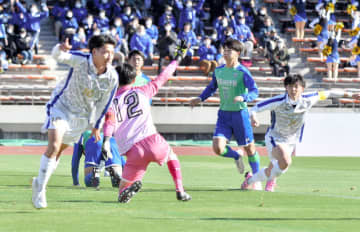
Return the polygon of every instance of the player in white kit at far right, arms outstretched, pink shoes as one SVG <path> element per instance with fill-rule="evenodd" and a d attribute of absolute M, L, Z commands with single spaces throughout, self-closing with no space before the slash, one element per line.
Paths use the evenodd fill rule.
<path fill-rule="evenodd" d="M 270 164 L 254 175 L 246 173 L 242 189 L 249 189 L 254 182 L 267 181 L 265 191 L 273 192 L 276 178 L 287 171 L 296 143 L 301 142 L 306 113 L 318 101 L 328 97 L 352 96 L 334 90 L 303 93 L 305 81 L 298 74 L 287 76 L 284 85 L 286 93 L 258 102 L 250 110 L 251 123 L 255 127 L 260 125 L 256 113 L 271 111 L 271 125 L 265 135 Z"/>

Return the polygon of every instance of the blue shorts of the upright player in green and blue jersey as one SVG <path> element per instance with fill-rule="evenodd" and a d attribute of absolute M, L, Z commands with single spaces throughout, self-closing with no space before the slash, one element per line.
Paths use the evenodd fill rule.
<path fill-rule="evenodd" d="M 230 140 L 234 135 L 239 146 L 246 146 L 254 141 L 249 111 L 218 111 L 214 137 L 225 137 Z"/>

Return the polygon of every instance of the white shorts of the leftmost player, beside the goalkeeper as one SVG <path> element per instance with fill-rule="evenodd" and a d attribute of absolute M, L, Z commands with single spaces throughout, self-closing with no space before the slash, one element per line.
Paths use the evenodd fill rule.
<path fill-rule="evenodd" d="M 77 143 L 81 134 L 88 130 L 89 120 L 73 114 L 64 113 L 55 107 L 51 108 L 50 115 L 46 117 L 41 132 L 45 133 L 48 129 L 63 131 L 64 137 L 62 143 L 73 145 Z"/>

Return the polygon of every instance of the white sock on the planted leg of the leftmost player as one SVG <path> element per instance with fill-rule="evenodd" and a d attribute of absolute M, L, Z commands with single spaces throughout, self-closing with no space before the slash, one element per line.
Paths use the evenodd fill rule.
<path fill-rule="evenodd" d="M 46 155 L 41 156 L 39 175 L 37 177 L 39 192 L 45 189 L 51 174 L 54 172 L 55 165 L 56 165 L 56 158 L 48 158 Z"/>

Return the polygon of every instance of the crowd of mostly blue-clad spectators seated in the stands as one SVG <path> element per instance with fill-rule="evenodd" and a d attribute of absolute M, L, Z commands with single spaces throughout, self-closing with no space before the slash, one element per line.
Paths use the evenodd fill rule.
<path fill-rule="evenodd" d="M 190 65 L 192 57 L 199 56 L 206 75 L 224 64 L 222 44 L 228 38 L 243 43 L 242 63 L 246 66 L 252 65 L 255 48 L 269 58 L 274 74 L 279 74 L 276 70 L 288 61 L 287 53 L 274 53 L 276 49 L 279 52 L 278 44 L 286 45 L 277 35 L 267 8 L 256 7 L 255 0 L 58 0 L 50 11 L 46 1 L 30 6 L 25 2 L 0 0 L 2 70 L 8 62 L 32 62 L 40 21 L 49 15 L 58 40 L 68 39 L 73 50 L 86 50 L 89 37 L 108 33 L 118 42 L 119 62 L 129 51 L 139 50 L 145 56 L 145 65 L 151 65 L 156 54 L 160 56 L 159 72 L 165 58 L 173 54 L 182 39 L 189 47 L 182 65 Z M 287 60 L 279 61 L 281 58 Z"/>

